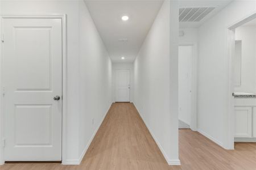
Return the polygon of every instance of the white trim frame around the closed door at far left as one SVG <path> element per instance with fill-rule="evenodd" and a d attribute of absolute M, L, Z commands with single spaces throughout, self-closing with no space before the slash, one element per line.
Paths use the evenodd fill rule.
<path fill-rule="evenodd" d="M 2 21 L 5 18 L 49 18 L 49 19 L 61 19 L 62 29 L 62 137 L 61 137 L 61 159 L 67 158 L 67 14 L 12 14 L 12 15 L 0 15 L 0 33 L 2 36 Z M 4 150 L 3 150 L 3 99 L 2 99 L 2 59 L 3 59 L 3 43 L 0 42 L 0 165 L 5 163 Z"/>

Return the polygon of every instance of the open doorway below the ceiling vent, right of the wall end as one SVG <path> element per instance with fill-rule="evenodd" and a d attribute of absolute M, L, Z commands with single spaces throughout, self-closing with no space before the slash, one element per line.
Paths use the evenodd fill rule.
<path fill-rule="evenodd" d="M 179 129 L 197 130 L 197 45 L 179 45 Z"/>

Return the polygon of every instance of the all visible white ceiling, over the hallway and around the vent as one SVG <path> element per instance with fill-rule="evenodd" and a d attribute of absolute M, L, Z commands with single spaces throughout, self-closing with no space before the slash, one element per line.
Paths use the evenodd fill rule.
<path fill-rule="evenodd" d="M 179 8 L 191 8 L 192 18 L 186 16 L 180 22 L 180 28 L 197 28 L 216 15 L 233 0 L 179 0 Z M 162 0 L 85 0 L 94 23 L 100 33 L 113 62 L 133 62 L 147 33 L 154 22 Z M 208 9 L 201 17 L 196 9 Z M 212 10 L 211 10 L 212 9 Z M 208 11 L 208 12 L 207 12 Z M 192 14 L 192 12 L 194 12 Z M 123 21 L 123 15 L 129 20 Z M 200 20 L 193 16 L 199 15 Z M 122 59 L 125 57 L 125 59 Z"/>

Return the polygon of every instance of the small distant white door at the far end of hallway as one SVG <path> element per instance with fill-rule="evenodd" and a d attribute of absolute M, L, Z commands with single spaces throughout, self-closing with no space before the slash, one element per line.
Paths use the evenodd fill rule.
<path fill-rule="evenodd" d="M 115 101 L 130 101 L 130 71 L 115 71 Z"/>

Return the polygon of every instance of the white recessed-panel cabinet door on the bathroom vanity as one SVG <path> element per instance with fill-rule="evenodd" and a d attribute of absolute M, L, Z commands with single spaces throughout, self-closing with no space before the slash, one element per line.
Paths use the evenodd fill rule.
<path fill-rule="evenodd" d="M 235 134 L 237 138 L 251 138 L 253 130 L 253 108 L 235 107 Z"/>

